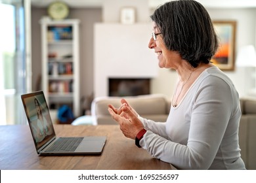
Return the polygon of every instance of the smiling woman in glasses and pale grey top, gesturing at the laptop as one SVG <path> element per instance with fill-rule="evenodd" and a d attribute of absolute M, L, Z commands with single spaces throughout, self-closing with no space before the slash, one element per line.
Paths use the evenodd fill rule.
<path fill-rule="evenodd" d="M 238 144 L 238 92 L 210 60 L 218 39 L 207 10 L 196 1 L 171 1 L 152 18 L 148 47 L 159 67 L 175 69 L 179 82 L 166 122 L 139 116 L 125 101 L 109 112 L 125 137 L 178 169 L 245 169 Z"/>

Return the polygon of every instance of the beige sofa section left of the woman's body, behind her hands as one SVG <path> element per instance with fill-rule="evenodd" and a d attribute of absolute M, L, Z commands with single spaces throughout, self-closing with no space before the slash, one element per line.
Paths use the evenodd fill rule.
<path fill-rule="evenodd" d="M 171 101 L 161 94 L 134 97 L 96 97 L 91 105 L 91 114 L 95 117 L 96 124 L 117 124 L 108 112 L 108 105 L 112 104 L 118 108 L 121 105 L 121 98 L 125 98 L 140 116 L 156 122 L 165 122 L 171 107 Z"/>

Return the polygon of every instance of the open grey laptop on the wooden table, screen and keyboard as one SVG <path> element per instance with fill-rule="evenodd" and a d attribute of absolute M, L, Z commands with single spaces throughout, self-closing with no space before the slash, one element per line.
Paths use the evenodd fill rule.
<path fill-rule="evenodd" d="M 106 137 L 56 137 L 43 91 L 21 95 L 39 155 L 102 154 Z"/>

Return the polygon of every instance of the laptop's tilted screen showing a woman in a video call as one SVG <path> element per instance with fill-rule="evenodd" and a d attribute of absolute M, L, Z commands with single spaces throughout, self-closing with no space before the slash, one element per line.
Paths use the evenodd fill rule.
<path fill-rule="evenodd" d="M 39 148 L 56 136 L 45 95 L 42 91 L 24 94 L 22 95 L 22 103 L 38 152 Z"/>

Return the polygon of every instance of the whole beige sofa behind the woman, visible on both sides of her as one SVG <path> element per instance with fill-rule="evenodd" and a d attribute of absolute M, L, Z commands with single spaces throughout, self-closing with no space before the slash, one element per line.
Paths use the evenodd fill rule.
<path fill-rule="evenodd" d="M 165 122 L 171 107 L 171 101 L 161 94 L 124 97 L 140 116 Z M 121 97 L 97 97 L 91 105 L 94 124 L 116 125 L 108 113 L 108 104 L 119 107 Z M 241 98 L 242 117 L 239 127 L 241 156 L 247 169 L 256 169 L 256 99 Z"/>

